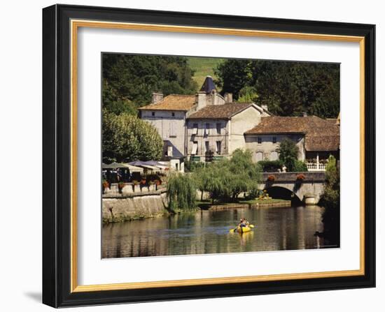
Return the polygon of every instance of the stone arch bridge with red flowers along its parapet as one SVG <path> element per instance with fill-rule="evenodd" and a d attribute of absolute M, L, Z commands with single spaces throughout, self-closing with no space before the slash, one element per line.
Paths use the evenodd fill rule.
<path fill-rule="evenodd" d="M 304 179 L 300 179 L 304 177 Z M 323 193 L 325 172 L 263 172 L 260 188 L 276 197 L 297 198 L 301 202 L 316 205 Z"/>

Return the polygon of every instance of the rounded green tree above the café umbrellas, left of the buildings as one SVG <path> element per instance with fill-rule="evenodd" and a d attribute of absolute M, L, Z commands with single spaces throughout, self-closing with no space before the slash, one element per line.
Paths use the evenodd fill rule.
<path fill-rule="evenodd" d="M 103 161 L 149 161 L 162 157 L 163 141 L 158 131 L 135 116 L 103 110 Z"/>

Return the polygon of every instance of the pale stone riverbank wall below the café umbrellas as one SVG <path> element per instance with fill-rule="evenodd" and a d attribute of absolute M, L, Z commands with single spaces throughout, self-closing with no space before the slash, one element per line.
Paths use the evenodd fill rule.
<path fill-rule="evenodd" d="M 164 216 L 168 200 L 166 192 L 143 195 L 104 195 L 102 198 L 103 223 L 123 222 Z"/>

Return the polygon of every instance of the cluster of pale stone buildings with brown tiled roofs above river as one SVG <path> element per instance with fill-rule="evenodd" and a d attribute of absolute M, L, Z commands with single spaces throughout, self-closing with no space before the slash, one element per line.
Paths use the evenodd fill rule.
<path fill-rule="evenodd" d="M 183 171 L 184 159 L 205 161 L 230 156 L 235 149 L 250 149 L 253 161 L 279 158 L 283 138 L 293 140 L 298 159 L 309 170 L 324 170 L 330 154 L 339 159 L 339 116 L 271 116 L 267 107 L 236 103 L 222 96 L 210 76 L 195 95 L 153 93 L 152 103 L 139 108 L 140 117 L 157 128 L 165 143 L 164 161 Z"/>

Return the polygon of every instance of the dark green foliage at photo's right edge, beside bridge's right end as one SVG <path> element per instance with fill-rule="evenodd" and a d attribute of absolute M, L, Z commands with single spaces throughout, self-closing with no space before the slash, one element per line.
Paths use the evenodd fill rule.
<path fill-rule="evenodd" d="M 321 197 L 321 202 L 326 207 L 339 207 L 339 170 L 334 156 L 329 156 L 326 165 L 325 188 Z"/>

